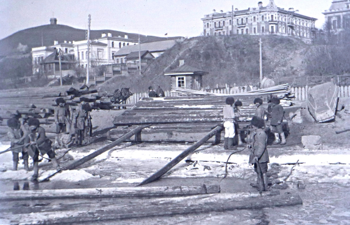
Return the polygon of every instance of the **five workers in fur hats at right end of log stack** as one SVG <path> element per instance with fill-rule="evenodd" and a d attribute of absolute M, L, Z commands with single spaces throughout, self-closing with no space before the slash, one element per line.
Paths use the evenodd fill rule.
<path fill-rule="evenodd" d="M 280 105 L 280 100 L 276 97 L 270 100 L 268 110 L 262 106 L 262 99 L 256 98 L 254 104 L 257 106 L 255 115 L 251 120 L 251 132 L 247 134 L 247 148 L 251 151 L 249 163 L 254 164 L 254 170 L 257 173 L 257 182 L 251 185 L 259 188 L 262 183 L 262 191 L 267 190 L 267 164 L 269 163 L 269 154 L 267 151 L 267 133 L 265 120 L 270 118 L 270 130 L 275 135 L 273 144 L 285 145 L 286 140 L 282 130 L 283 107 Z M 234 106 L 233 106 L 234 105 Z M 223 120 L 225 127 L 224 149 L 232 150 L 237 147 L 234 145 L 234 137 L 239 132 L 237 121 L 239 121 L 239 107 L 242 102 L 237 100 L 234 102 L 232 97 L 226 99 L 226 106 L 223 108 Z M 237 118 L 238 117 L 238 118 Z M 238 135 L 238 145 L 242 145 L 242 139 Z"/>

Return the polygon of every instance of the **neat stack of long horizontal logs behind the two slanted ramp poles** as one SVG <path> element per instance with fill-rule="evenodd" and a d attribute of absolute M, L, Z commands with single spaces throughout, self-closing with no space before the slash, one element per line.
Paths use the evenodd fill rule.
<path fill-rule="evenodd" d="M 240 96 L 240 128 L 250 124 L 256 106 L 254 99 L 267 101 L 268 96 Z M 131 125 L 151 126 L 142 129 L 142 142 L 196 142 L 210 130 L 223 122 L 223 107 L 226 96 L 142 98 L 129 110 L 115 117 L 118 126 L 107 133 L 110 140 L 117 139 L 130 131 Z M 267 109 L 268 104 L 263 106 Z M 222 140 L 223 140 L 222 133 Z M 138 141 L 129 140 L 129 141 Z M 215 137 L 208 142 L 215 142 Z"/>

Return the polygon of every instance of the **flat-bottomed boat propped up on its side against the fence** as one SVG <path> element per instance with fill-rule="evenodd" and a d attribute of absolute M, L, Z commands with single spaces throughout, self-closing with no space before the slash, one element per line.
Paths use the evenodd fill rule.
<path fill-rule="evenodd" d="M 331 82 L 312 87 L 308 93 L 307 106 L 317 123 L 335 118 L 339 87 Z"/>

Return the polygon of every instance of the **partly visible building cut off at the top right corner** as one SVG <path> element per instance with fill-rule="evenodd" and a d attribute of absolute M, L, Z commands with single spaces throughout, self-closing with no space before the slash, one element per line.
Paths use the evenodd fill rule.
<path fill-rule="evenodd" d="M 327 29 L 333 32 L 350 29 L 350 0 L 333 0 L 323 14 Z"/>

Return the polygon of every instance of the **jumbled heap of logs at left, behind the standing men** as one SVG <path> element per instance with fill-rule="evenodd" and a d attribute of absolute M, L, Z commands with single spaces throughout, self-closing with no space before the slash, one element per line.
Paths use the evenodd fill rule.
<path fill-rule="evenodd" d="M 54 139 L 56 125 L 53 115 L 57 107 L 55 101 L 57 98 L 66 100 L 73 110 L 80 102 L 80 97 L 88 98 L 93 109 L 113 109 L 110 96 L 104 95 L 87 87 L 79 89 L 78 86 L 2 90 L 0 91 L 0 136 L 7 134 L 8 119 L 27 115 L 29 118 L 39 119 L 41 126 L 47 132 L 47 137 Z"/>

